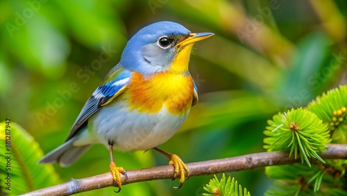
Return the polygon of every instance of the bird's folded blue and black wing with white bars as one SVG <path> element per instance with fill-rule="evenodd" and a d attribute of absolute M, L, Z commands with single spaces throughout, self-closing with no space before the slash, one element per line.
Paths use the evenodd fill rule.
<path fill-rule="evenodd" d="M 131 74 L 132 72 L 122 67 L 113 67 L 101 85 L 96 88 L 90 99 L 85 103 L 85 106 L 83 106 L 81 113 L 71 128 L 67 140 L 75 136 L 78 130 L 87 123 L 90 116 L 126 90 L 130 83 Z"/>

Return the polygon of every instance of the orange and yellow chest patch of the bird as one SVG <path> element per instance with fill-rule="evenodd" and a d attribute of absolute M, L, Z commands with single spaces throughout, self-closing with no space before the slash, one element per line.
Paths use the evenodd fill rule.
<path fill-rule="evenodd" d="M 194 84 L 190 75 L 158 73 L 145 79 L 133 73 L 127 91 L 132 109 L 155 113 L 166 106 L 169 113 L 180 115 L 192 107 Z"/>

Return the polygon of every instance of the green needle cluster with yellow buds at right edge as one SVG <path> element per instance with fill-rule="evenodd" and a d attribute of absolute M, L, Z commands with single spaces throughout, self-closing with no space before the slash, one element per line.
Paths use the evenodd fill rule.
<path fill-rule="evenodd" d="M 347 143 L 347 85 L 329 90 L 311 101 L 307 110 L 325 122 L 332 133 L 332 142 Z"/>

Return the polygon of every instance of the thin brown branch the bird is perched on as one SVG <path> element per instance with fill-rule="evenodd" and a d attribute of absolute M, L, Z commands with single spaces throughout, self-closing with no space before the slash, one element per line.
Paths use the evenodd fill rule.
<path fill-rule="evenodd" d="M 328 149 L 320 154 L 320 156 L 323 159 L 346 159 L 347 145 L 328 145 Z M 299 161 L 301 161 L 299 158 L 289 158 L 288 152 L 261 152 L 211 161 L 187 163 L 187 167 L 190 170 L 191 176 L 199 176 L 221 172 L 254 170 L 264 166 L 285 165 Z M 166 165 L 139 170 L 127 170 L 127 174 L 128 181 L 124 181 L 125 178 L 122 176 L 123 185 L 140 181 L 171 179 L 174 176 L 174 167 Z M 35 190 L 24 195 L 72 195 L 87 190 L 105 188 L 112 186 L 112 184 L 112 176 L 110 172 L 107 172 L 105 174 L 99 174 L 85 179 L 71 179 L 66 183 Z"/>

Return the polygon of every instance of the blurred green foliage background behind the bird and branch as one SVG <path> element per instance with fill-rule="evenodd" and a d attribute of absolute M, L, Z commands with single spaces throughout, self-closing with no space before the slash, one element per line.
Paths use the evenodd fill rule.
<path fill-rule="evenodd" d="M 344 0 L 0 1 L 0 120 L 21 124 L 45 153 L 58 147 L 127 40 L 170 20 L 216 35 L 196 44 L 190 62 L 200 103 L 160 148 L 186 163 L 263 152 L 272 115 L 347 83 L 346 18 Z M 168 162 L 153 151 L 115 152 L 115 160 L 126 170 Z M 95 145 L 69 168 L 54 166 L 64 182 L 108 172 L 109 161 Z M 264 169 L 227 174 L 252 195 L 271 184 Z M 202 195 L 211 178 L 192 177 L 179 190 L 170 186 L 177 180 L 135 183 L 119 195 Z"/>

